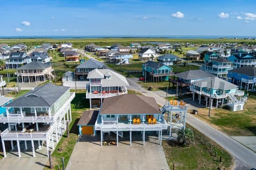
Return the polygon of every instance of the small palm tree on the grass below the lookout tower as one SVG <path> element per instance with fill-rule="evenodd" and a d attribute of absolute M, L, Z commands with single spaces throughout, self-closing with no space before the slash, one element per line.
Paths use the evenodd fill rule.
<path fill-rule="evenodd" d="M 194 133 L 190 128 L 182 129 L 178 133 L 178 141 L 181 145 L 189 147 L 190 143 L 194 141 Z"/>

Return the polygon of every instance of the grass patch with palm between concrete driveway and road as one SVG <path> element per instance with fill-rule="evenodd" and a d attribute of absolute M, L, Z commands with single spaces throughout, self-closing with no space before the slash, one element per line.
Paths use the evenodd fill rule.
<path fill-rule="evenodd" d="M 233 160 L 228 152 L 204 136 L 201 141 L 202 134 L 192 130 L 195 140 L 188 148 L 181 147 L 175 141 L 163 141 L 163 149 L 170 169 L 173 169 L 173 164 L 175 164 L 175 169 L 230 169 Z M 205 141 L 207 141 L 206 146 Z M 214 151 L 210 150 L 210 145 L 214 151 L 217 151 L 217 157 L 215 157 Z M 220 155 L 222 156 L 221 163 L 219 162 Z"/>

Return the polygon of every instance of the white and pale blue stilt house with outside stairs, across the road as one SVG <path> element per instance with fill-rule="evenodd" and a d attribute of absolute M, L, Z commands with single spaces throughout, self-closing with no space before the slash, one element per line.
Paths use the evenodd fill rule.
<path fill-rule="evenodd" d="M 199 104 L 201 103 L 201 97 L 204 97 L 206 106 L 209 106 L 210 103 L 211 108 L 214 103 L 216 107 L 218 107 L 218 104 L 232 105 L 233 111 L 240 111 L 244 106 L 244 102 L 236 98 L 237 96 L 244 96 L 244 91 L 238 90 L 235 84 L 218 77 L 194 81 L 190 85 L 190 91 L 193 92 L 193 101 L 197 94 Z"/>

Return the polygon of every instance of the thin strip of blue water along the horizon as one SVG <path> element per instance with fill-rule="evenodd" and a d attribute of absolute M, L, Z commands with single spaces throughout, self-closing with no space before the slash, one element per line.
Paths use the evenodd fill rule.
<path fill-rule="evenodd" d="M 163 39 L 256 39 L 256 36 L 193 36 L 193 35 L 141 35 L 141 36 L 0 36 L 0 39 L 91 39 L 91 38 L 163 38 Z"/>

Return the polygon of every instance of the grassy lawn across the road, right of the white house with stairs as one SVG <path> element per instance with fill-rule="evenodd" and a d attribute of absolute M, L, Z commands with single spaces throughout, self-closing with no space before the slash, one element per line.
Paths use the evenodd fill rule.
<path fill-rule="evenodd" d="M 195 116 L 228 135 L 252 136 L 256 135 L 255 103 L 255 96 L 251 96 L 244 106 L 244 111 L 231 112 L 224 109 L 212 109 L 212 116 L 209 117 L 207 116 L 209 109 L 199 108 L 198 115 Z"/>

